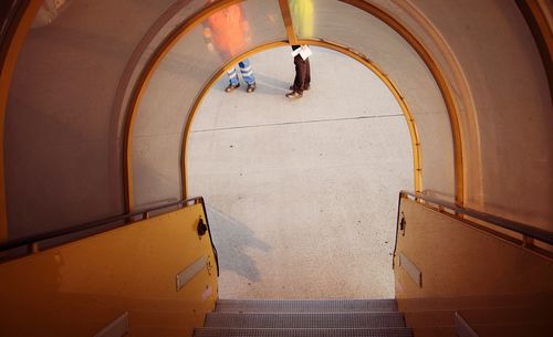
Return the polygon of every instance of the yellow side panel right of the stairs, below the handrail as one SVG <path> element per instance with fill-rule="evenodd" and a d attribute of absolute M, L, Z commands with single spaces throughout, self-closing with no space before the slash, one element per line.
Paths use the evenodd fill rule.
<path fill-rule="evenodd" d="M 551 259 L 413 200 L 403 199 L 400 212 L 396 297 L 417 336 L 451 335 L 455 312 L 480 337 L 553 331 Z M 398 265 L 400 254 L 420 271 L 421 286 Z"/>

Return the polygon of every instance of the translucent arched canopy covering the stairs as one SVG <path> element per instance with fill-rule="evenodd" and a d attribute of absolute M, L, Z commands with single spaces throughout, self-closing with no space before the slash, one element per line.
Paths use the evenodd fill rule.
<path fill-rule="evenodd" d="M 460 126 L 462 158 L 457 162 L 462 164 L 466 203 L 551 229 L 551 97 L 514 2 L 313 3 L 316 21 L 310 39 L 365 55 L 411 110 L 425 190 L 456 193 L 452 115 Z M 397 21 L 431 62 L 397 28 L 359 9 L 364 4 Z M 29 31 L 6 112 L 10 236 L 123 212 L 131 116 L 135 206 L 181 197 L 179 156 L 190 107 L 229 61 L 207 51 L 201 20 L 192 20 L 210 13 L 208 6 L 207 0 L 71 0 L 59 10 L 49 8 L 51 22 Z M 252 32 L 242 52 L 288 41 L 279 1 L 242 6 Z M 181 36 L 161 50 L 181 27 Z"/>

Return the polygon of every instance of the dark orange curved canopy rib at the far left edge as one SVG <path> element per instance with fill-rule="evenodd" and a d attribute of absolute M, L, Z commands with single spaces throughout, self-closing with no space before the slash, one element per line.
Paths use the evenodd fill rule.
<path fill-rule="evenodd" d="M 8 96 L 10 92 L 11 78 L 15 71 L 19 52 L 23 46 L 27 33 L 42 6 L 41 0 L 30 0 L 22 10 L 20 20 L 17 21 L 13 33 L 8 43 L 6 53 L 2 56 L 2 69 L 0 76 L 0 241 L 8 239 L 8 203 L 6 196 L 6 172 L 4 172 L 4 123 L 6 108 L 8 106 Z"/>

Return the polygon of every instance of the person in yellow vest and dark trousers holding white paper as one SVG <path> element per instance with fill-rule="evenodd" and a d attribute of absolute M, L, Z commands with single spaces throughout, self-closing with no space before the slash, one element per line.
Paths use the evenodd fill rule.
<path fill-rule="evenodd" d="M 296 36 L 311 38 L 313 36 L 313 1 L 312 0 L 289 0 L 290 13 L 292 14 L 292 24 L 295 29 Z M 298 51 L 301 45 L 292 45 L 292 51 Z M 290 86 L 291 92 L 286 94 L 288 98 L 300 98 L 304 91 L 310 89 L 311 85 L 311 66 L 310 60 L 298 53 L 294 56 L 295 77 L 294 83 Z"/>

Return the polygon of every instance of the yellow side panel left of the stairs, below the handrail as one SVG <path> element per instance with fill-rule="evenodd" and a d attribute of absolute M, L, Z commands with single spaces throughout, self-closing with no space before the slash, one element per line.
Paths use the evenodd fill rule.
<path fill-rule="evenodd" d="M 191 336 L 217 298 L 200 217 L 196 204 L 0 264 L 0 336 L 94 336 L 126 312 L 128 336 Z M 177 291 L 202 256 L 209 267 Z"/>

